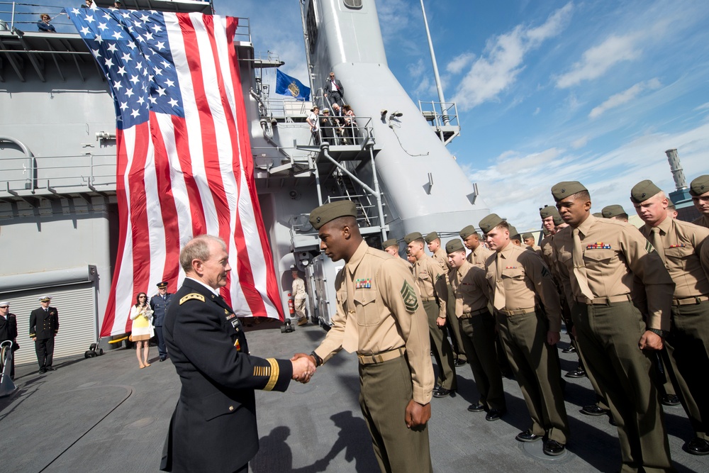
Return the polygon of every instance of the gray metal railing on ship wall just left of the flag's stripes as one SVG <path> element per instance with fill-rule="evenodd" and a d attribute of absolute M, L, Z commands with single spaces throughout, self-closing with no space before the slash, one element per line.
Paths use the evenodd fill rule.
<path fill-rule="evenodd" d="M 116 155 L 19 156 L 0 160 L 0 196 L 116 189 Z"/>

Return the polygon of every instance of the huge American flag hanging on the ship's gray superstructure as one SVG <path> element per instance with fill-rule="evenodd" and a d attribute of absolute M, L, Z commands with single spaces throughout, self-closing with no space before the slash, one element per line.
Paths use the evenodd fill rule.
<path fill-rule="evenodd" d="M 233 38 L 237 18 L 67 9 L 116 108 L 120 235 L 101 337 L 130 331 L 135 294 L 182 284 L 193 235 L 228 245 L 221 289 L 238 316 L 283 320 L 253 177 Z"/>

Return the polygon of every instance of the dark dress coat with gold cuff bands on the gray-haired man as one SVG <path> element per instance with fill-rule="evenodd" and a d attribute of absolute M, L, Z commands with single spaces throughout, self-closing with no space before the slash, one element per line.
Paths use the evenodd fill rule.
<path fill-rule="evenodd" d="M 259 449 L 254 389 L 285 391 L 289 360 L 249 355 L 232 308 L 193 279 L 174 294 L 163 325 L 182 390 L 161 469 L 234 472 Z"/>

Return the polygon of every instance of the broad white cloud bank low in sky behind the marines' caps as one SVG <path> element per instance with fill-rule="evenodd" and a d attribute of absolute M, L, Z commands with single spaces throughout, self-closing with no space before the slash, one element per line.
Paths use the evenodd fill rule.
<path fill-rule="evenodd" d="M 652 179 L 664 191 L 674 181 L 664 150 L 677 148 L 688 180 L 709 172 L 709 123 L 679 133 L 642 135 L 603 155 L 578 155 L 548 148 L 527 155 L 508 151 L 486 169 L 468 172 L 491 212 L 508 218 L 520 231 L 540 228 L 538 209 L 553 204 L 549 189 L 560 181 L 583 182 L 591 191 L 592 211 L 610 204 L 630 205 L 630 189 Z M 465 167 L 469 169 L 469 167 Z"/>

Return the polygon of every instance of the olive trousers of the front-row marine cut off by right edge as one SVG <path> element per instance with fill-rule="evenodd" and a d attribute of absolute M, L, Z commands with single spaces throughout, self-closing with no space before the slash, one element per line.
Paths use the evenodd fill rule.
<path fill-rule="evenodd" d="M 709 428 L 709 301 L 672 307 L 672 327 L 665 340 L 679 399 L 698 438 Z"/>

